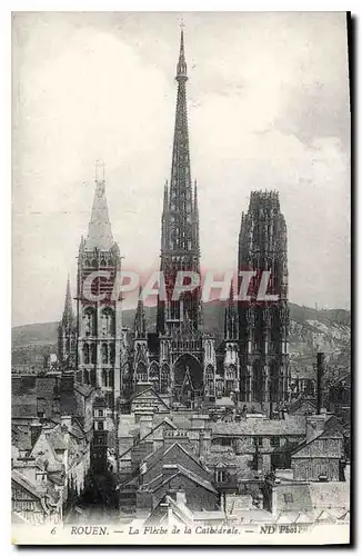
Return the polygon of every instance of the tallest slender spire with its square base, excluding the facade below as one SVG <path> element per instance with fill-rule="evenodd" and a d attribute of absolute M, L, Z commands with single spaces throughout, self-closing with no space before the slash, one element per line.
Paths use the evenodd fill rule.
<path fill-rule="evenodd" d="M 178 95 L 173 137 L 170 188 L 164 186 L 161 230 L 161 271 L 167 285 L 167 300 L 158 302 L 158 331 L 164 334 L 178 328 L 185 315 L 192 327 L 200 326 L 200 290 L 184 292 L 180 300 L 171 300 L 179 270 L 200 274 L 199 210 L 197 183 L 191 183 L 189 129 L 187 110 L 187 62 L 183 30 L 177 64 Z"/>

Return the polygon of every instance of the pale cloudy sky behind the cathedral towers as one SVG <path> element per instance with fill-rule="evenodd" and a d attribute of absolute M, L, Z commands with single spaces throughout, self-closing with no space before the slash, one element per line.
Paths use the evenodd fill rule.
<path fill-rule="evenodd" d="M 19 12 L 12 326 L 60 319 L 97 159 L 124 268 L 159 268 L 181 20 L 202 268 L 235 269 L 250 192 L 275 189 L 288 225 L 290 300 L 350 308 L 344 13 Z"/>

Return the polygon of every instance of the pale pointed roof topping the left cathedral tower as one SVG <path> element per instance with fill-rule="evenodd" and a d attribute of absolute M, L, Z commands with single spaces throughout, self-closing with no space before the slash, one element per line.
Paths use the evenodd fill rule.
<path fill-rule="evenodd" d="M 97 160 L 95 192 L 91 219 L 88 227 L 88 236 L 86 239 L 86 248 L 98 248 L 107 251 L 112 247 L 112 245 L 113 236 L 105 198 L 104 163 Z"/>

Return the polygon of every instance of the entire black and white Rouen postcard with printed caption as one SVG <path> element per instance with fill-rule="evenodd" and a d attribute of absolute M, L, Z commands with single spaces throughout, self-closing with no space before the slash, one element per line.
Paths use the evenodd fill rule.
<path fill-rule="evenodd" d="M 12 12 L 13 544 L 350 544 L 350 30 Z"/>

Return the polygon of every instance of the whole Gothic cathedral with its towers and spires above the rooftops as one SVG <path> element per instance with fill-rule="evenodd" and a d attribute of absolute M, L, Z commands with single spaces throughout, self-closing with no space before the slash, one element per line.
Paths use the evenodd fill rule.
<path fill-rule="evenodd" d="M 270 269 L 280 301 L 259 306 L 252 298 L 243 306 L 235 300 L 231 285 L 224 338 L 217 350 L 213 336 L 203 327 L 200 287 L 172 298 L 180 270 L 200 276 L 198 186 L 191 179 L 183 30 L 175 81 L 171 175 L 164 186 L 161 218 L 160 271 L 167 295 L 158 299 L 155 331 L 148 330 L 141 295 L 132 330 L 122 324 L 121 300 L 110 295 L 121 257 L 108 214 L 104 169 L 98 165 L 88 235 L 81 239 L 78 255 L 77 316 L 68 281 L 59 325 L 59 361 L 74 370 L 77 381 L 102 391 L 114 411 L 147 385 L 173 406 L 198 407 L 221 396 L 241 403 L 278 403 L 288 395 L 289 312 L 286 228 L 276 193 L 251 195 L 241 221 L 239 270 L 245 265 Z M 108 272 L 108 279 L 99 278 L 84 295 L 87 277 L 94 270 Z"/>

